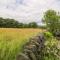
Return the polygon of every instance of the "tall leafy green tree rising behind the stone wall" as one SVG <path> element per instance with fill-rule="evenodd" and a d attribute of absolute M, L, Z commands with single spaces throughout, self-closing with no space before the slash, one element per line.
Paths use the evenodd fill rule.
<path fill-rule="evenodd" d="M 60 17 L 54 10 L 48 10 L 45 12 L 44 21 L 50 32 L 55 33 L 57 30 L 60 30 Z"/>

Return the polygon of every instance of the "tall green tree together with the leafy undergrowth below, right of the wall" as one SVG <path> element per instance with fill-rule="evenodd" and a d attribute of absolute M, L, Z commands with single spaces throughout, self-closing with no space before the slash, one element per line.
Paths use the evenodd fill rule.
<path fill-rule="evenodd" d="M 54 10 L 48 10 L 44 15 L 44 22 L 48 32 L 45 32 L 45 60 L 60 60 L 60 47 L 56 36 L 60 38 L 60 15 Z"/>

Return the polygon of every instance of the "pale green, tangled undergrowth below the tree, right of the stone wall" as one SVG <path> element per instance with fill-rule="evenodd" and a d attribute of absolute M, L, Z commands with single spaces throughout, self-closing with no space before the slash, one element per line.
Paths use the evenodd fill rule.
<path fill-rule="evenodd" d="M 45 60 L 60 60 L 60 48 L 58 48 L 59 41 L 55 37 L 46 38 L 44 59 Z"/>

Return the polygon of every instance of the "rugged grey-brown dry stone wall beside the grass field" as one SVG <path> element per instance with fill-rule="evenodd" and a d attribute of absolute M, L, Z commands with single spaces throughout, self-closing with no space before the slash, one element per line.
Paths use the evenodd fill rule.
<path fill-rule="evenodd" d="M 39 34 L 24 46 L 22 53 L 17 55 L 16 60 L 44 60 L 44 34 Z"/>

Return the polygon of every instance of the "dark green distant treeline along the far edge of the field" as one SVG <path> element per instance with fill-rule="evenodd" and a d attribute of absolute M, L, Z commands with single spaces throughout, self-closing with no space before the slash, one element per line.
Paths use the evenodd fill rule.
<path fill-rule="evenodd" d="M 40 28 L 36 22 L 20 23 L 14 19 L 0 17 L 0 28 Z M 45 28 L 45 27 L 41 27 Z"/>

